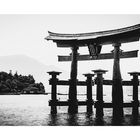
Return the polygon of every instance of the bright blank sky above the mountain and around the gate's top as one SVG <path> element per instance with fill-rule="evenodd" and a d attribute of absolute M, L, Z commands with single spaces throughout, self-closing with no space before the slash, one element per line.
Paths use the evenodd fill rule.
<path fill-rule="evenodd" d="M 56 33 L 85 33 L 111 30 L 140 23 L 140 15 L 0 15 L 0 56 L 26 55 L 45 65 L 54 65 L 62 70 L 70 71 L 70 62 L 58 62 L 57 55 L 70 54 L 71 50 L 57 48 L 52 41 L 44 38 L 48 31 Z M 121 49 L 136 50 L 140 43 L 122 44 Z M 103 46 L 102 52 L 113 50 L 111 45 Z M 88 49 L 80 48 L 79 53 L 87 54 Z M 121 60 L 124 78 L 127 72 L 140 71 L 139 57 Z M 93 69 L 109 70 L 107 77 L 112 77 L 113 60 L 84 61 L 78 63 L 79 74 Z"/>

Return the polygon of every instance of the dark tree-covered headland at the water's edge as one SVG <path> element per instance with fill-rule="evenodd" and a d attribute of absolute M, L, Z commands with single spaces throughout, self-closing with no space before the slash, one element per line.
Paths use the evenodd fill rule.
<path fill-rule="evenodd" d="M 12 74 L 12 71 L 0 72 L 0 94 L 35 94 L 45 93 L 43 84 L 35 83 L 32 75 L 19 75 L 17 72 Z"/>

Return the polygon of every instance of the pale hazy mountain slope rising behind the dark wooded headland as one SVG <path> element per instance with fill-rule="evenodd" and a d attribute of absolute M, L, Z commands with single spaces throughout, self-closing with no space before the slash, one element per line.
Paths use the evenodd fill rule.
<path fill-rule="evenodd" d="M 36 82 L 42 82 L 46 90 L 50 90 L 48 86 L 49 75 L 48 71 L 63 71 L 53 65 L 45 65 L 34 58 L 26 55 L 11 55 L 11 56 L 0 56 L 0 71 L 9 72 L 12 70 L 13 74 L 17 71 L 18 74 L 34 76 Z M 69 74 L 63 71 L 63 76 L 67 77 Z"/>

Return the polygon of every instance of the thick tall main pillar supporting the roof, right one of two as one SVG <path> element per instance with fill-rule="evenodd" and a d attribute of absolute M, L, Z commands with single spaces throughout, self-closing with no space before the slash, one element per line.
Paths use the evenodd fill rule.
<path fill-rule="evenodd" d="M 113 65 L 113 84 L 112 84 L 112 103 L 113 117 L 123 117 L 123 88 L 122 77 L 120 72 L 120 43 L 114 46 L 114 65 Z"/>

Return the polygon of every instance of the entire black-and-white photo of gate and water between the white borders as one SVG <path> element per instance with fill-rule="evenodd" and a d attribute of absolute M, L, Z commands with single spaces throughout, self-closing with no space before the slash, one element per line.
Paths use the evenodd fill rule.
<path fill-rule="evenodd" d="M 139 14 L 1 14 L 0 126 L 140 126 Z"/>

